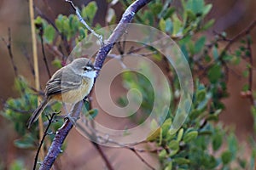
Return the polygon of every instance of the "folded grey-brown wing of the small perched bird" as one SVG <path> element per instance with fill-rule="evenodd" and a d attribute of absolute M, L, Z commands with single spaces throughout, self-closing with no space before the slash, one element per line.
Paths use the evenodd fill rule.
<path fill-rule="evenodd" d="M 66 67 L 56 71 L 46 84 L 45 94 L 61 94 L 79 88 L 82 79 L 73 70 Z"/>

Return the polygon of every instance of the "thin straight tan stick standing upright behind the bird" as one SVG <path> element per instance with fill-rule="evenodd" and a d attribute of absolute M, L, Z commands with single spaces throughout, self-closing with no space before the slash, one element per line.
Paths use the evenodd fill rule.
<path fill-rule="evenodd" d="M 31 31 L 32 31 L 32 54 L 34 60 L 34 70 L 35 70 L 35 85 L 36 89 L 39 91 L 40 82 L 39 82 L 39 69 L 38 69 L 38 49 L 37 49 L 37 39 L 36 39 L 36 28 L 34 23 L 34 10 L 33 10 L 33 0 L 29 0 L 29 14 L 30 14 L 30 23 L 31 23 Z M 39 97 L 38 97 L 38 105 L 39 105 Z M 44 130 L 43 130 L 43 120 L 42 116 L 38 118 L 39 122 L 39 138 L 43 139 Z M 41 150 L 41 159 L 44 159 L 44 149 Z"/>

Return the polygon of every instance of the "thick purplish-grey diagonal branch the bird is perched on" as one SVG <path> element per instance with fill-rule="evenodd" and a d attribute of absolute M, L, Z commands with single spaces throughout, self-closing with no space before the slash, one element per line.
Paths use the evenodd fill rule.
<path fill-rule="evenodd" d="M 96 67 L 102 68 L 102 65 L 107 58 L 109 51 L 113 48 L 114 43 L 119 39 L 119 37 L 123 35 L 125 29 L 127 28 L 127 24 L 131 23 L 131 20 L 133 19 L 137 11 L 143 8 L 143 6 L 145 6 L 150 1 L 151 0 L 137 0 L 125 10 L 125 13 L 119 21 L 118 26 L 114 29 L 112 35 L 108 38 L 108 41 L 104 43 L 102 48 L 100 48 L 99 52 L 96 54 Z M 83 102 L 80 101 L 73 107 L 73 116 L 79 116 L 83 105 Z M 61 146 L 72 127 L 73 123 L 67 120 L 63 123 L 62 127 L 58 129 L 55 135 L 55 139 L 49 148 L 47 156 L 45 156 L 42 166 L 40 167 L 41 170 L 46 170 L 52 167 L 56 157 L 61 153 Z"/>

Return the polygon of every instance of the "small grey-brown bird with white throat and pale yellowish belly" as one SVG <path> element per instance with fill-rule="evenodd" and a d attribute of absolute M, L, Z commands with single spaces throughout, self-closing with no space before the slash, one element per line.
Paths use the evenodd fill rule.
<path fill-rule="evenodd" d="M 28 128 L 38 120 L 44 108 L 52 102 L 61 101 L 65 107 L 65 103 L 74 105 L 84 99 L 90 94 L 96 71 L 99 70 L 90 62 L 90 59 L 79 58 L 56 71 L 46 83 L 44 99 L 28 120 Z"/>

